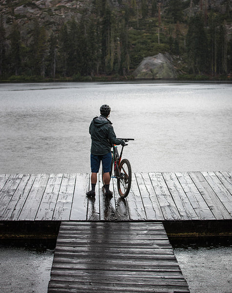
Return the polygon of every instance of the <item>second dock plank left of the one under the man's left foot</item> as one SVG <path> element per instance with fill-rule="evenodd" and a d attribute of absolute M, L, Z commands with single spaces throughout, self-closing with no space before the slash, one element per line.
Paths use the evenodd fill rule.
<path fill-rule="evenodd" d="M 63 174 L 63 179 L 52 218 L 53 221 L 69 220 L 75 182 L 76 174 Z"/>

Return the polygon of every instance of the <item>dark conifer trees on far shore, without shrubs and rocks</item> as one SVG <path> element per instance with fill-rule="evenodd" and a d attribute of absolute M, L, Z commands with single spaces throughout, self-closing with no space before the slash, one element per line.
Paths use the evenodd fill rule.
<path fill-rule="evenodd" d="M 200 6 L 201 11 L 187 19 L 181 0 L 169 0 L 166 10 L 158 0 L 118 2 L 123 5 L 120 11 L 113 10 L 107 0 L 93 0 L 91 13 L 85 10 L 80 21 L 72 19 L 49 34 L 35 21 L 26 40 L 22 40 L 16 20 L 6 36 L 1 17 L 0 76 L 78 79 L 99 74 L 127 75 L 138 65 L 131 63 L 133 50 L 138 50 L 131 41 L 131 28 L 141 35 L 152 35 L 157 28 L 156 42 L 167 44 L 169 53 L 183 56 L 189 64 L 188 73 L 217 75 L 231 71 L 232 41 L 225 19 L 217 14 L 208 15 L 206 8 Z M 164 31 L 165 17 L 175 25 L 175 37 Z M 188 24 L 186 35 L 178 29 L 184 21 Z"/>

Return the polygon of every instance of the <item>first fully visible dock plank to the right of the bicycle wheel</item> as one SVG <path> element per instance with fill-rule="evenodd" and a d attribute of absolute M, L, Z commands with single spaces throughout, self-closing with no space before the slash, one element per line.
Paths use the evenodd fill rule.
<path fill-rule="evenodd" d="M 148 220 L 164 220 L 159 201 L 148 173 L 135 173 Z"/>

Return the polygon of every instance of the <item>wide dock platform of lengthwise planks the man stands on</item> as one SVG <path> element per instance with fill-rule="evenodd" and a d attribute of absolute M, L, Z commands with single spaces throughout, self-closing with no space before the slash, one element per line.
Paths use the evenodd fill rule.
<path fill-rule="evenodd" d="M 121 199 L 113 179 L 107 198 L 101 176 L 88 199 L 89 174 L 0 175 L 0 221 L 232 220 L 232 172 L 133 173 Z"/>

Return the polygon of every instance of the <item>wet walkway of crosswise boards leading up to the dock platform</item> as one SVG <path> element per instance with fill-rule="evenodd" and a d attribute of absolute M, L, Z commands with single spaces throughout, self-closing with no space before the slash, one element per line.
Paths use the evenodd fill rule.
<path fill-rule="evenodd" d="M 162 223 L 62 222 L 48 293 L 189 293 Z"/>

